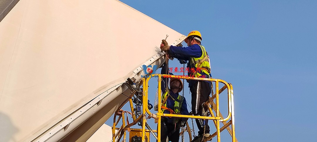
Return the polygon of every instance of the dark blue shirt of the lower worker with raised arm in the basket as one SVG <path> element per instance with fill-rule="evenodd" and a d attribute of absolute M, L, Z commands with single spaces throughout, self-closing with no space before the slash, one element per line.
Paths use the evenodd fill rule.
<path fill-rule="evenodd" d="M 162 70 L 161 70 L 161 74 L 167 74 L 167 69 L 166 69 L 166 64 L 163 64 Z M 171 73 L 170 73 L 171 74 Z M 173 75 L 173 74 L 171 74 Z M 169 83 L 169 78 L 162 78 L 162 83 L 161 83 L 161 89 L 162 89 L 162 94 L 165 93 L 166 91 L 166 86 L 168 86 Z M 178 97 L 178 93 L 174 93 L 173 91 L 169 90 L 170 92 L 170 96 L 173 97 L 174 99 Z M 175 100 L 173 100 L 171 97 L 168 97 L 166 100 L 166 107 L 169 109 L 173 109 L 174 110 L 174 104 L 175 104 Z M 168 110 L 164 110 L 163 113 L 167 113 L 170 114 L 170 111 Z M 182 115 L 189 115 L 188 109 L 187 109 L 187 104 L 186 104 L 186 99 L 184 97 L 183 102 L 182 102 L 182 106 L 180 108 L 180 113 Z M 169 123 L 173 123 L 173 117 L 169 118 L 169 117 L 165 117 L 165 119 L 167 119 L 167 122 Z M 187 121 L 187 118 L 182 118 L 181 121 Z"/>

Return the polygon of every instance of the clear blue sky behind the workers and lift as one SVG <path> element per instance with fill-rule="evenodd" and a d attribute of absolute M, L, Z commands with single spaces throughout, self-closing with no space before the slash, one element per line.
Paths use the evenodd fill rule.
<path fill-rule="evenodd" d="M 317 1 L 121 1 L 184 35 L 201 32 L 213 78 L 233 84 L 240 142 L 316 141 Z"/>

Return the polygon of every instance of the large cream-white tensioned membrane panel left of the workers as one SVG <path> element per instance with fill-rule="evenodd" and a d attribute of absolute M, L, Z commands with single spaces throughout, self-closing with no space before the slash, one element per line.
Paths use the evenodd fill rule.
<path fill-rule="evenodd" d="M 20 0 L 0 22 L 0 141 L 35 139 L 125 82 L 166 34 L 184 39 L 116 0 Z"/>

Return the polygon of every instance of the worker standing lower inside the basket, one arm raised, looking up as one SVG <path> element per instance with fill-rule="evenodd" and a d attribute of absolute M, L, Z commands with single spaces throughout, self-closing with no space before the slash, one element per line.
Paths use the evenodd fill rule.
<path fill-rule="evenodd" d="M 167 59 L 168 60 L 168 59 Z M 161 74 L 168 74 L 168 63 L 161 67 Z M 171 74 L 173 75 L 173 74 Z M 183 90 L 183 83 L 179 78 L 170 79 L 170 88 L 168 88 L 169 78 L 162 79 L 162 106 L 161 113 L 189 115 L 186 99 L 178 93 Z M 167 137 L 171 142 L 179 141 L 179 131 L 181 123 L 184 124 L 188 118 L 162 117 L 161 120 L 161 141 L 165 142 Z"/>

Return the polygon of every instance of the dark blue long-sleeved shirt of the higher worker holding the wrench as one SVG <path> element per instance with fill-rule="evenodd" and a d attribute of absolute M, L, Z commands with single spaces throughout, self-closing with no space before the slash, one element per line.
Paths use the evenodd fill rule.
<path fill-rule="evenodd" d="M 194 44 L 188 47 L 179 47 L 179 46 L 172 46 L 170 47 L 170 55 L 180 60 L 190 61 L 191 57 L 199 58 L 203 55 L 203 51 L 201 50 L 198 44 Z M 194 65 L 191 65 L 190 62 L 187 63 L 187 68 L 195 68 Z M 191 75 L 192 72 L 188 71 L 188 76 Z M 205 78 L 210 78 L 209 74 L 205 74 L 204 72 L 200 72 L 199 74 L 203 75 Z M 189 80 L 188 87 L 193 86 L 198 80 Z M 211 86 L 210 81 L 209 82 Z"/>

